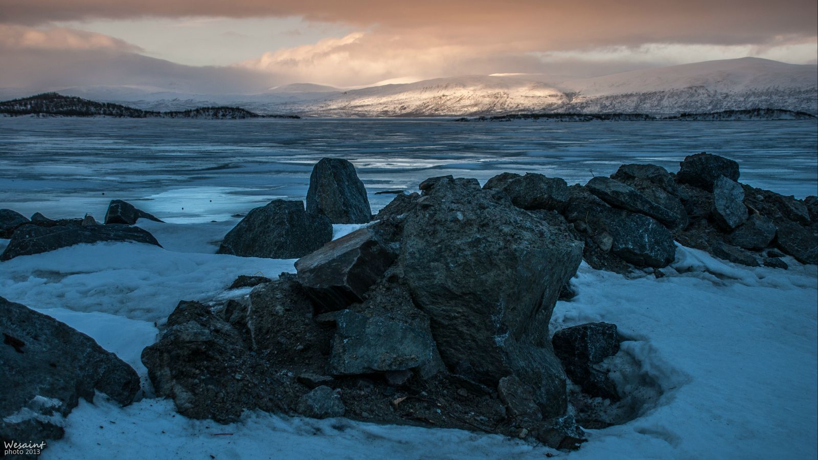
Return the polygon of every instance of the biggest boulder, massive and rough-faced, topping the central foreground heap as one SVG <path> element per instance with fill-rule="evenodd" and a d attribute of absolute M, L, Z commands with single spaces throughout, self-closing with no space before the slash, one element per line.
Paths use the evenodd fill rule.
<path fill-rule="evenodd" d="M 398 264 L 443 362 L 492 387 L 514 374 L 547 416 L 564 413 L 564 373 L 547 330 L 582 243 L 468 182 L 437 178 L 421 188 Z"/>

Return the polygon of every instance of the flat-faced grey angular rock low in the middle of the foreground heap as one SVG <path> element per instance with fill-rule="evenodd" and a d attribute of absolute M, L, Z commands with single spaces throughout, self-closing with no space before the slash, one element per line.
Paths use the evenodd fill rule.
<path fill-rule="evenodd" d="M 416 327 L 350 310 L 340 311 L 335 318 L 333 375 L 403 371 L 431 363 L 435 357 L 432 336 Z"/>

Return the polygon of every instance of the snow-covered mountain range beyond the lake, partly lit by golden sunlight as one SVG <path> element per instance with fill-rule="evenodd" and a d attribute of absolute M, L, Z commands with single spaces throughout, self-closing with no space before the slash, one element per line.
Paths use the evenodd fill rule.
<path fill-rule="evenodd" d="M 347 91 L 296 83 L 250 95 L 189 94 L 137 87 L 59 91 L 145 110 L 240 106 L 262 114 L 312 116 L 474 116 L 543 112 L 677 115 L 755 108 L 818 114 L 818 65 L 745 57 L 587 79 L 550 79 L 555 77 L 468 75 Z"/>

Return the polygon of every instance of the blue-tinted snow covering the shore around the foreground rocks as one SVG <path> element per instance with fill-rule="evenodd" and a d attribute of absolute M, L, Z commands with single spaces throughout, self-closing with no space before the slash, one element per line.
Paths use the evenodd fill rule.
<path fill-rule="evenodd" d="M 22 256 L 0 264 L 0 291 L 94 337 L 136 368 L 146 384 L 139 354 L 155 340 L 154 322 L 165 318 L 178 300 L 213 299 L 236 274 L 275 276 L 293 271 L 293 261 L 215 255 L 214 246 L 193 244 L 180 231 L 186 224 L 141 225 L 150 227 L 168 249 L 103 243 Z M 199 241 L 222 228 L 191 227 L 195 225 Z M 336 226 L 335 237 L 353 229 Z M 89 263 L 83 263 L 83 273 L 73 263 L 79 254 Z M 664 395 L 636 420 L 588 431 L 582 449 L 559 454 L 814 457 L 818 273 L 815 265 L 789 257 L 786 262 L 787 271 L 748 268 L 678 246 L 676 261 L 661 278 L 622 276 L 582 264 L 573 280 L 579 294 L 557 303 L 552 331 L 582 322 L 616 323 L 629 339 L 623 350 L 642 363 L 640 371 L 658 381 Z M 43 458 L 73 458 L 77 452 L 87 458 L 317 458 L 337 455 L 339 446 L 349 458 L 533 458 L 557 453 L 496 435 L 346 419 L 254 412 L 221 426 L 189 420 L 175 413 L 171 401 L 150 398 L 128 408 L 108 403 L 104 396 L 95 404 L 81 401 L 65 422 L 65 438 L 52 441 Z"/>

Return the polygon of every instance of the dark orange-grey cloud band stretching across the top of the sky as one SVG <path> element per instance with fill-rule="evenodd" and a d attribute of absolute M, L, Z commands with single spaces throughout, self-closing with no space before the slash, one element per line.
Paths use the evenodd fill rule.
<path fill-rule="evenodd" d="M 815 0 L 0 0 L 0 21 L 285 17 L 530 51 L 642 43 L 767 43 L 815 36 Z"/>

